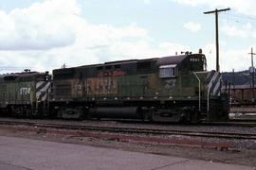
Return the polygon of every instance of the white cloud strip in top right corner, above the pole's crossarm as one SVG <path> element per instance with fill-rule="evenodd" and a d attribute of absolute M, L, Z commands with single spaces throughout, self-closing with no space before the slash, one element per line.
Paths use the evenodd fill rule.
<path fill-rule="evenodd" d="M 246 15 L 256 16 L 255 0 L 170 0 L 180 4 L 190 5 L 192 7 L 206 5 L 210 8 L 231 8 Z"/>

